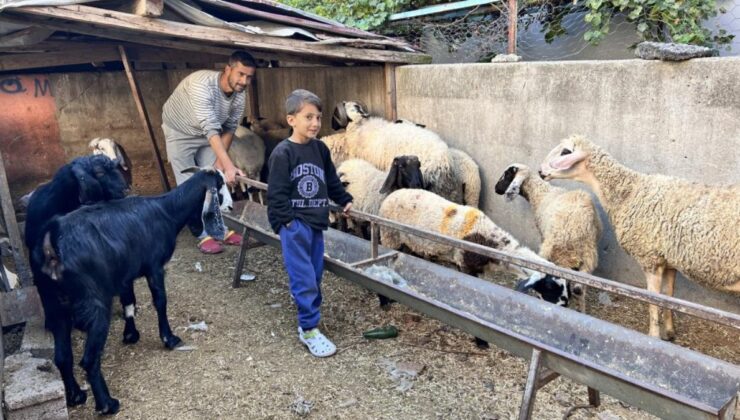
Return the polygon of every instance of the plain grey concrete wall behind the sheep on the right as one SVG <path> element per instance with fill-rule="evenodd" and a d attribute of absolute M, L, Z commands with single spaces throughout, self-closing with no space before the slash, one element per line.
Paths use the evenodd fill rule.
<path fill-rule="evenodd" d="M 404 66 L 397 70 L 397 94 L 400 118 L 426 124 L 475 158 L 482 209 L 533 249 L 540 238 L 529 205 L 506 203 L 493 186 L 510 163 L 538 166 L 574 133 L 635 170 L 740 182 L 740 58 Z M 603 212 L 602 220 L 596 274 L 644 287 Z M 737 296 L 683 278 L 676 296 L 740 312 Z"/>

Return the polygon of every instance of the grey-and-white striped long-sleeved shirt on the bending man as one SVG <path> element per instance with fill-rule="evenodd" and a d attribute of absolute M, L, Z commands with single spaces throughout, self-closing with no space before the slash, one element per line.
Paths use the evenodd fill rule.
<path fill-rule="evenodd" d="M 162 122 L 191 136 L 234 132 L 244 113 L 246 92 L 226 96 L 218 85 L 221 72 L 200 70 L 189 75 L 172 92 L 162 109 Z"/>

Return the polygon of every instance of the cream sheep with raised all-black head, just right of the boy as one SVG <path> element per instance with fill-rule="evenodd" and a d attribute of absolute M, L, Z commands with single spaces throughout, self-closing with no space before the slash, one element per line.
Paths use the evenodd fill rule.
<path fill-rule="evenodd" d="M 422 188 L 424 179 L 420 165 L 416 156 L 397 156 L 386 175 L 362 159 L 350 159 L 339 165 L 337 175 L 354 198 L 353 210 L 378 214 L 380 204 L 393 191 Z M 355 233 L 369 238 L 366 227 L 366 223 L 354 224 Z"/>

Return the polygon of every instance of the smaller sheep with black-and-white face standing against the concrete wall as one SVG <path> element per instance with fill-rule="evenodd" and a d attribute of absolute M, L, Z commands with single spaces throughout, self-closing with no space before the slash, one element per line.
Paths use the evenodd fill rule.
<path fill-rule="evenodd" d="M 593 273 L 599 263 L 602 226 L 588 193 L 552 186 L 518 163 L 506 168 L 495 191 L 508 201 L 521 195 L 530 203 L 542 236 L 541 257 L 561 267 Z M 573 294 L 585 312 L 586 286 L 576 284 Z"/>

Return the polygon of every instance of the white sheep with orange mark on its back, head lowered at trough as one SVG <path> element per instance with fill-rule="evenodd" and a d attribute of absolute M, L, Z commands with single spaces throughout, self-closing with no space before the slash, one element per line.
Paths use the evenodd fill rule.
<path fill-rule="evenodd" d="M 513 236 L 498 227 L 480 210 L 455 204 L 429 191 L 417 189 L 395 191 L 383 200 L 379 215 L 426 231 L 475 242 L 549 264 L 529 248 L 520 245 Z M 391 228 L 381 227 L 380 239 L 386 247 L 401 249 L 406 246 L 425 258 L 453 263 L 471 275 L 506 269 L 519 278 L 528 278 L 519 283 L 517 290 L 533 289 L 548 302 L 557 305 L 568 304 L 568 287 L 563 279 Z"/>

